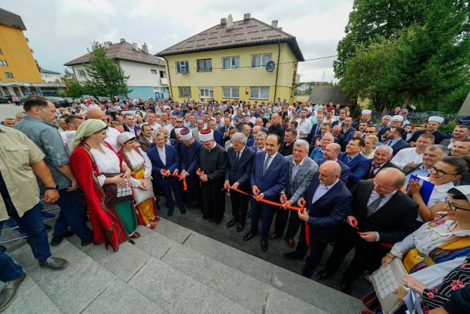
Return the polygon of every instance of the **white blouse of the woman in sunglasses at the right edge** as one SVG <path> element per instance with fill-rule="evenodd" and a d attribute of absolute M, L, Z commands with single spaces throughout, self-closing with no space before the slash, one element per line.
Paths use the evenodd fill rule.
<path fill-rule="evenodd" d="M 395 243 L 390 252 L 396 257 L 403 257 L 403 253 L 415 247 L 419 252 L 429 254 L 436 247 L 452 238 L 470 235 L 470 230 L 451 231 L 455 226 L 457 226 L 456 221 L 446 218 L 429 221 L 401 242 Z"/>

